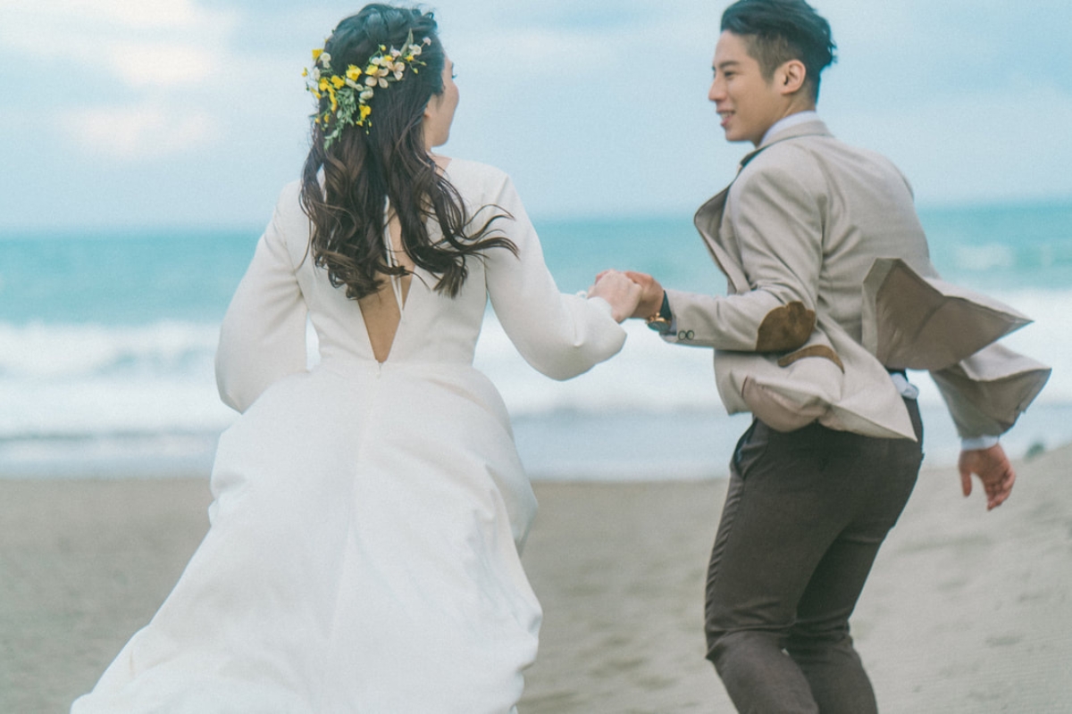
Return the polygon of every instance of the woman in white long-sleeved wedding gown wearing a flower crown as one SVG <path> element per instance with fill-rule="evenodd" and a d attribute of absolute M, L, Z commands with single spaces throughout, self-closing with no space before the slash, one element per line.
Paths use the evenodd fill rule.
<path fill-rule="evenodd" d="M 92 712 L 504 714 L 536 656 L 536 502 L 473 366 L 487 300 L 536 369 L 616 353 L 639 288 L 561 294 L 503 172 L 432 153 L 458 89 L 431 13 L 372 4 L 314 52 L 302 180 L 224 318 L 242 412 L 211 528 Z M 306 369 L 306 321 L 322 360 Z"/>

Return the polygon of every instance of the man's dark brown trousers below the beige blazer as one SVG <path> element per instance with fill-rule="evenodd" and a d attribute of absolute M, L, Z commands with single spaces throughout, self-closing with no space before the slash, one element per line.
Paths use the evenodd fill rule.
<path fill-rule="evenodd" d="M 812 424 L 741 437 L 708 571 L 705 631 L 738 711 L 877 712 L 849 616 L 879 546 L 908 502 L 917 442 Z"/>

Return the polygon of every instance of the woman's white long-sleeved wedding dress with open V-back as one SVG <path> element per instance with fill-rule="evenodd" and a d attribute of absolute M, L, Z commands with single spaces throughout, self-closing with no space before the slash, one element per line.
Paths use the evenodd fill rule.
<path fill-rule="evenodd" d="M 506 174 L 458 159 L 446 173 L 471 211 L 512 214 L 497 225 L 520 257 L 470 259 L 456 299 L 418 269 L 384 363 L 307 256 L 299 185 L 283 191 L 222 328 L 220 390 L 243 414 L 220 439 L 211 528 L 73 714 L 513 710 L 541 617 L 519 557 L 536 503 L 472 366 L 486 302 L 556 379 L 625 333 L 605 301 L 557 291 Z"/>

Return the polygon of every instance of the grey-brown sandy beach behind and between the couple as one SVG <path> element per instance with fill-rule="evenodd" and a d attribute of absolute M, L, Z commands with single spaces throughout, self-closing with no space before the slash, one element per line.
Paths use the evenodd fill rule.
<path fill-rule="evenodd" d="M 1072 447 L 985 512 L 925 468 L 853 620 L 887 713 L 1072 711 Z M 726 484 L 538 483 L 545 608 L 522 714 L 732 712 L 703 659 Z M 65 712 L 155 611 L 208 526 L 208 483 L 0 480 L 0 712 Z"/>

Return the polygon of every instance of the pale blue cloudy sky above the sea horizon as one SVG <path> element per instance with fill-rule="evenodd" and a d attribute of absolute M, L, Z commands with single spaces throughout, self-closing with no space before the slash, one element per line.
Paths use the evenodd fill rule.
<path fill-rule="evenodd" d="M 537 217 L 686 214 L 743 145 L 706 101 L 725 2 L 441 0 L 444 153 Z M 1072 199 L 1072 3 L 816 0 L 820 112 L 921 203 Z M 259 227 L 308 147 L 309 51 L 357 4 L 0 0 L 0 230 Z"/>

